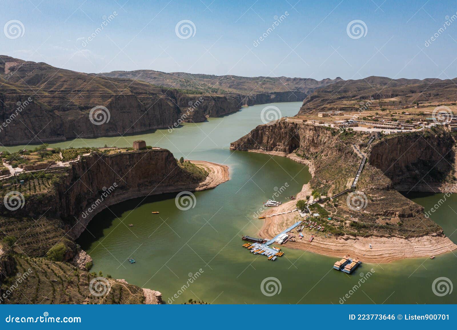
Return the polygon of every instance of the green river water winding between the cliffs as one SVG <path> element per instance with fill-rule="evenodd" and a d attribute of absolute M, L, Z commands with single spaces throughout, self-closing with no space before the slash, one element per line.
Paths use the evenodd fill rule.
<path fill-rule="evenodd" d="M 274 105 L 282 116 L 292 116 L 301 102 Z M 176 208 L 176 194 L 171 193 L 129 200 L 110 207 L 112 212 L 106 209 L 97 214 L 78 240 L 94 260 L 92 271 L 158 290 L 167 303 L 183 303 L 189 298 L 207 303 L 457 303 L 457 290 L 444 296 L 432 290 L 438 277 L 457 284 L 454 253 L 437 255 L 434 260 L 363 263 L 349 276 L 333 270 L 336 259 L 332 257 L 283 249 L 285 255 L 271 262 L 241 246 L 245 243 L 241 240 L 243 234 L 257 236 L 263 220 L 253 214 L 262 202 L 273 197 L 275 187 L 287 186 L 276 198 L 284 202 L 284 197 L 295 195 L 311 177 L 306 166 L 284 157 L 229 150 L 230 142 L 262 123 L 264 107 L 250 106 L 207 122 L 186 123 L 172 133 L 163 129 L 123 138 L 51 143 L 62 148 L 104 144 L 122 147 L 143 139 L 148 145 L 170 149 L 178 159 L 184 156 L 229 166 L 230 180 L 215 189 L 196 192 L 195 207 L 189 210 Z M 442 194 L 408 197 L 427 210 Z M 456 202 L 457 197 L 448 197 L 432 214 L 454 242 Z M 151 211 L 160 214 L 154 216 Z M 128 257 L 136 263 L 130 264 Z M 280 293 L 262 293 L 261 283 L 267 277 L 276 278 L 266 282 L 280 283 Z M 196 279 L 189 283 L 189 278 Z M 173 298 L 175 294 L 178 298 Z"/>

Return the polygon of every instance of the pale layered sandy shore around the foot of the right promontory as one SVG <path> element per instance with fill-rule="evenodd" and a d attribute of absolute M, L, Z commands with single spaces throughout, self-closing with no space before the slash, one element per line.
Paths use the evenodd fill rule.
<path fill-rule="evenodd" d="M 265 153 L 265 152 L 264 152 Z M 277 154 L 277 153 L 275 153 Z M 279 155 L 279 154 L 277 154 Z M 285 156 L 295 160 L 296 155 L 291 154 Z M 297 157 L 299 160 L 301 158 Z M 300 161 L 301 162 L 301 161 Z M 306 163 L 304 163 L 306 164 Z M 306 164 L 308 165 L 308 164 Z M 312 164 L 308 165 L 312 169 Z M 304 199 L 307 195 L 311 195 L 312 189 L 309 184 L 303 185 L 302 191 L 297 194 L 298 199 Z M 283 213 L 291 211 L 296 208 L 296 201 L 283 203 L 277 208 L 269 208 L 263 215 Z M 265 218 L 265 222 L 260 229 L 260 237 L 273 238 L 276 234 L 282 232 L 287 227 L 301 220 L 302 218 L 298 212 L 286 213 Z M 324 233 L 314 235 L 314 240 L 310 243 L 308 241 L 311 234 L 310 230 L 303 230 L 303 239 L 299 239 L 299 235 L 294 232 L 296 241 L 288 241 L 284 246 L 292 249 L 306 250 L 309 252 L 329 255 L 334 257 L 342 257 L 343 255 L 350 255 L 351 257 L 358 257 L 364 262 L 389 262 L 404 258 L 414 257 L 428 257 L 431 255 L 439 255 L 457 249 L 455 245 L 447 237 L 438 236 L 422 236 L 403 239 L 398 237 L 353 237 L 344 236 L 340 238 L 327 238 Z M 372 249 L 369 245 L 372 245 Z"/>

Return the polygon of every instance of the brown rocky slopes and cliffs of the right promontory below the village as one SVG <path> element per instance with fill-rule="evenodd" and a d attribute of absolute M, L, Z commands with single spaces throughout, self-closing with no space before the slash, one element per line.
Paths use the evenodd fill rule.
<path fill-rule="evenodd" d="M 430 218 L 425 218 L 421 206 L 394 188 L 408 186 L 419 190 L 414 186 L 422 176 L 427 178 L 427 172 L 432 173 L 429 176 L 436 182 L 447 177 L 451 166 L 445 163 L 450 162 L 455 166 L 454 158 L 448 156 L 444 161 L 440 159 L 441 155 L 454 153 L 455 143 L 450 134 L 439 129 L 436 132 L 420 132 L 417 136 L 402 133 L 384 137 L 373 146 L 371 154 L 370 147 L 366 147 L 368 138 L 361 133 L 339 132 L 333 128 L 280 120 L 256 127 L 230 144 L 230 149 L 288 155 L 294 160 L 310 163 L 314 168 L 310 181 L 312 189 L 321 195 L 335 197 L 325 207 L 328 211 L 337 210 L 333 214 L 336 218 L 340 217 L 340 224 L 335 227 L 339 228 L 338 234 L 403 238 L 443 236 L 441 227 Z M 418 144 L 418 138 L 423 138 L 423 143 Z M 344 194 L 351 191 L 361 162 L 352 149 L 353 144 L 365 144 L 361 149 L 369 159 L 358 179 L 356 191 L 352 192 L 355 196 L 361 196 L 364 205 L 362 212 L 351 209 L 352 195 Z M 411 152 L 408 153 L 408 150 Z M 436 173 L 433 173 L 434 169 Z M 342 195 L 338 195 L 340 192 Z M 349 218 L 356 221 L 356 225 L 348 228 L 349 224 L 345 224 L 345 221 Z"/>

